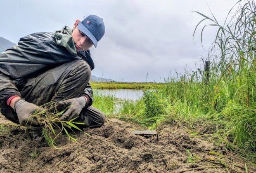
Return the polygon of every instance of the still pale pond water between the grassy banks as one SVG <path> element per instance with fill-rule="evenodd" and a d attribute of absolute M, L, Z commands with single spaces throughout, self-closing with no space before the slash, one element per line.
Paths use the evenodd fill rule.
<path fill-rule="evenodd" d="M 111 95 L 116 98 L 138 100 L 142 97 L 142 89 L 94 89 L 99 94 Z"/>

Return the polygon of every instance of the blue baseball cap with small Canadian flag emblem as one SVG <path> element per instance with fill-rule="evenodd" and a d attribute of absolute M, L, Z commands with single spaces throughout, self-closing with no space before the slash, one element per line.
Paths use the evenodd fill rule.
<path fill-rule="evenodd" d="M 83 21 L 79 21 L 77 28 L 92 40 L 95 47 L 105 33 L 103 19 L 96 15 L 87 16 Z"/>

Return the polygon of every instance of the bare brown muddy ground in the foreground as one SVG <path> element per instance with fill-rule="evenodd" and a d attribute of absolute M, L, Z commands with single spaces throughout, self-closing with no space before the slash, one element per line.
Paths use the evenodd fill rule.
<path fill-rule="evenodd" d="M 222 146 L 190 135 L 183 127 L 163 125 L 157 136 L 137 136 L 142 127 L 109 119 L 104 126 L 78 133 L 74 143 L 62 136 L 57 150 L 31 140 L 24 128 L 12 126 L 0 115 L 0 124 L 11 133 L 0 133 L 0 172 L 245 172 L 245 164 Z M 249 172 L 256 168 L 247 164 Z"/>

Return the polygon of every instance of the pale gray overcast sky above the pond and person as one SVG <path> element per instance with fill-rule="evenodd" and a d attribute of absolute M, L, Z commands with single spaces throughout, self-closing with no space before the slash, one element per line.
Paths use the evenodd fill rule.
<path fill-rule="evenodd" d="M 25 35 L 73 26 L 76 19 L 96 14 L 106 33 L 92 48 L 92 75 L 123 82 L 164 82 L 183 68 L 194 69 L 206 57 L 216 28 L 206 28 L 194 10 L 223 23 L 237 0 L 0 0 L 0 36 L 17 43 Z M 209 6 L 209 7 L 208 7 Z M 203 25 L 202 25 L 203 26 Z"/>

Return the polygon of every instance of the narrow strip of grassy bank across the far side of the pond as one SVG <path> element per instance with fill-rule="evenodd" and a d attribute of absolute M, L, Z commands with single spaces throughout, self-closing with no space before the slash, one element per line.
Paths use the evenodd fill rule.
<path fill-rule="evenodd" d="M 155 82 L 90 82 L 93 89 L 155 89 L 164 83 Z"/>

